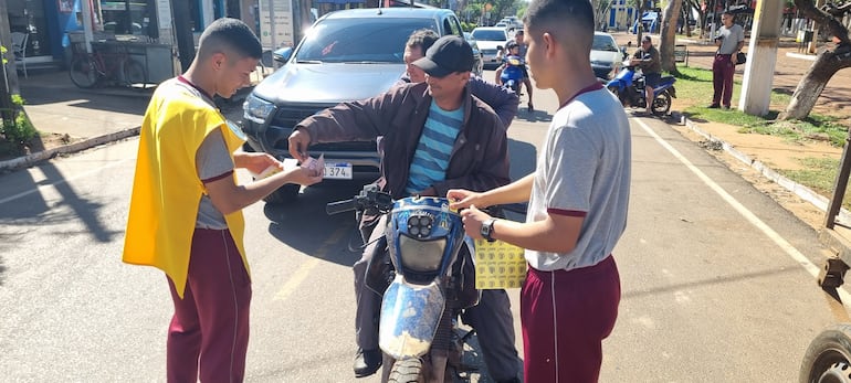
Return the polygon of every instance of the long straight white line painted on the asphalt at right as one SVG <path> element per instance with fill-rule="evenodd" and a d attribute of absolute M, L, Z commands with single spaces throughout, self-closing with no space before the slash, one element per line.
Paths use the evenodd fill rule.
<path fill-rule="evenodd" d="M 648 135 L 652 136 L 653 139 L 659 142 L 663 148 L 668 149 L 668 151 L 671 152 L 680 162 L 685 164 L 689 170 L 691 170 L 697 178 L 703 181 L 710 189 L 712 189 L 715 193 L 717 193 L 724 201 L 726 201 L 733 209 L 736 210 L 742 216 L 745 217 L 752 225 L 759 228 L 768 238 L 770 238 L 777 246 L 784 249 L 789 257 L 791 257 L 795 262 L 797 262 L 803 269 L 807 270 L 813 278 L 818 278 L 819 272 L 821 270 L 818 266 L 813 265 L 807 257 L 801 254 L 795 246 L 792 246 L 789 242 L 784 240 L 780 234 L 775 232 L 770 226 L 768 226 L 765 222 L 759 220 L 759 217 L 756 216 L 753 212 L 747 210 L 745 205 L 743 205 L 740 202 L 738 202 L 733 195 L 727 193 L 724 189 L 722 189 L 717 183 L 715 183 L 712 179 L 710 179 L 708 175 L 706 175 L 703 171 L 697 169 L 691 161 L 689 161 L 685 157 L 683 157 L 680 151 L 674 149 L 668 141 L 662 139 L 659 135 L 656 135 L 653 129 L 651 129 L 644 121 L 634 118 L 635 123 L 638 123 L 644 131 L 648 132 Z M 837 289 L 837 292 L 840 296 L 840 299 L 843 302 L 851 302 L 851 295 L 845 291 L 844 287 L 840 287 Z"/>

